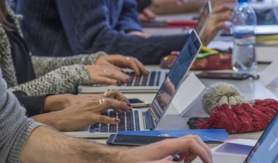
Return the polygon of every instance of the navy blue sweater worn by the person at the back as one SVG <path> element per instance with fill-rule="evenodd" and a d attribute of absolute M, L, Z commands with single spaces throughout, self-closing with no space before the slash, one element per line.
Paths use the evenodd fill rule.
<path fill-rule="evenodd" d="M 67 56 L 80 53 L 120 53 L 143 64 L 158 64 L 179 51 L 188 35 L 128 35 L 142 31 L 136 0 L 18 0 L 24 16 L 22 30 L 33 55 Z"/>

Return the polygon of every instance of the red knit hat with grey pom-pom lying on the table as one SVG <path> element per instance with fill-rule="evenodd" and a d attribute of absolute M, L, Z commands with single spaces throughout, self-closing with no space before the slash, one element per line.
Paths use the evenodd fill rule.
<path fill-rule="evenodd" d="M 192 117 L 191 129 L 224 128 L 230 134 L 265 130 L 278 110 L 274 99 L 245 101 L 234 85 L 213 85 L 202 97 L 208 118 Z"/>

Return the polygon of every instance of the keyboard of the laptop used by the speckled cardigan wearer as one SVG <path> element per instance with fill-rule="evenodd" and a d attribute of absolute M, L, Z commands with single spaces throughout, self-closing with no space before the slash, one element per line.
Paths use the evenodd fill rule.
<path fill-rule="evenodd" d="M 123 83 L 125 86 L 159 86 L 161 71 L 149 71 L 147 75 L 136 76 L 133 71 L 126 72 L 133 80 L 129 83 Z"/>

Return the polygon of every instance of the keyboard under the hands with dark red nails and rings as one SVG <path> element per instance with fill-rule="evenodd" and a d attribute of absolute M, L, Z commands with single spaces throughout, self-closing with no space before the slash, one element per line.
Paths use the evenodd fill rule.
<path fill-rule="evenodd" d="M 118 130 L 140 130 L 138 110 L 132 110 L 131 113 L 124 112 L 122 114 L 118 114 L 113 110 L 108 110 L 106 112 L 101 113 L 101 115 L 106 115 L 108 117 L 116 117 L 120 119 L 120 123 L 116 125 L 96 123 L 95 125 L 90 126 L 90 132 L 117 132 Z"/>

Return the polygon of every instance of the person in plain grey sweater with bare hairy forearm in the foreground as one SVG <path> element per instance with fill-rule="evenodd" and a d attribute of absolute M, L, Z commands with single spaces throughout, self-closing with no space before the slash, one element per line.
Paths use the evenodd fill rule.
<path fill-rule="evenodd" d="M 1 71 L 0 98 L 0 162 L 169 162 L 178 153 L 185 162 L 197 156 L 212 162 L 209 148 L 192 135 L 138 148 L 111 148 L 62 135 L 24 115 L 24 108 L 7 90 Z"/>

